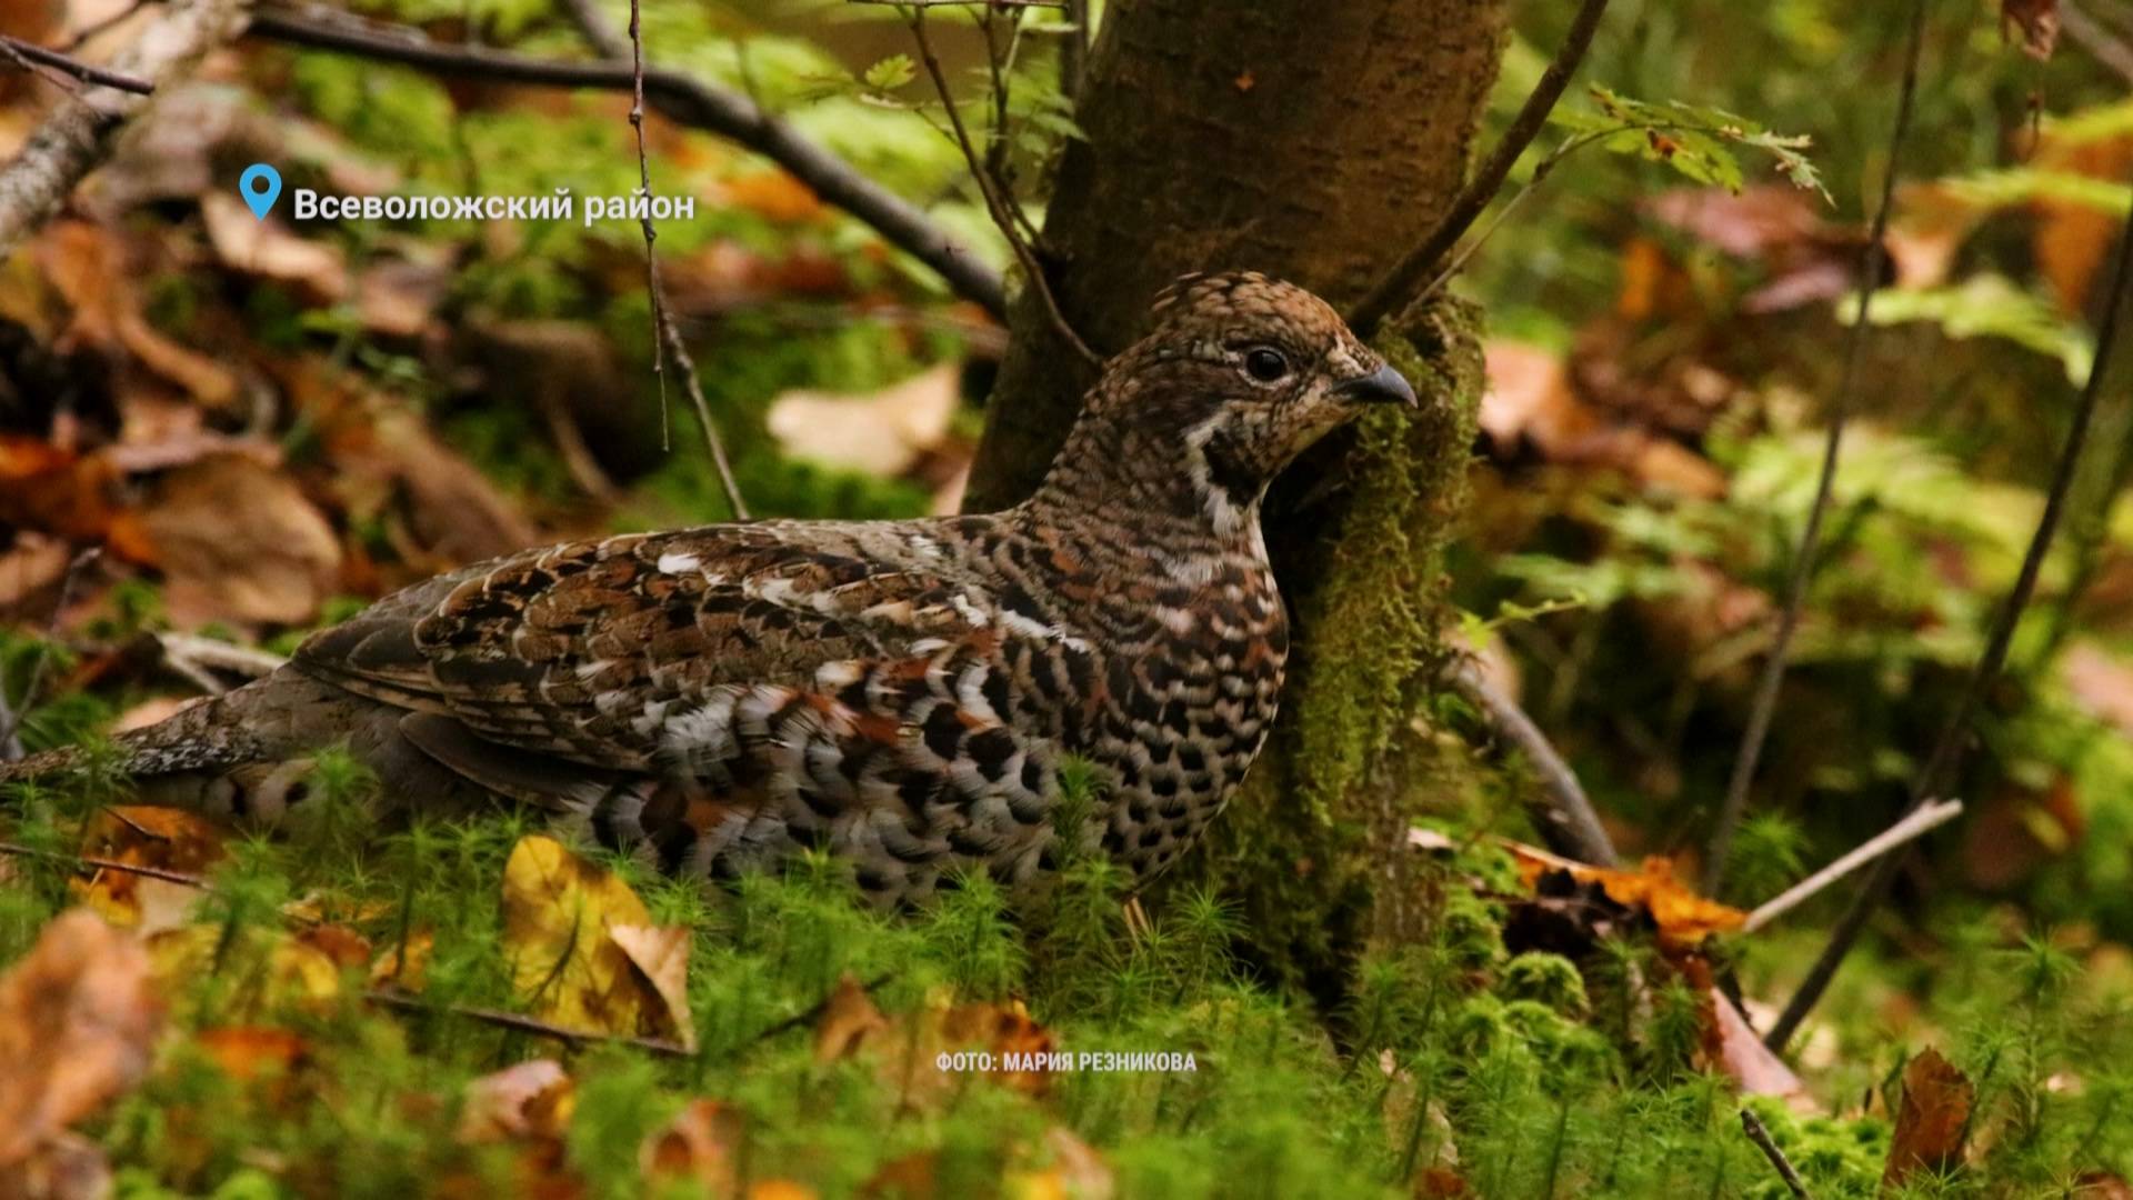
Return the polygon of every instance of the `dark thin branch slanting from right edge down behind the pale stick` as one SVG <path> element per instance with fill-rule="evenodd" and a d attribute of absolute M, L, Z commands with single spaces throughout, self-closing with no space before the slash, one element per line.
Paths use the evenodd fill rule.
<path fill-rule="evenodd" d="M 2088 442 L 2088 425 L 2095 421 L 2097 401 L 2103 393 L 2103 378 L 2110 374 L 2112 348 L 2118 342 L 2118 322 L 2124 314 L 2124 301 L 2129 282 L 2133 282 L 2133 222 L 2118 226 L 2118 254 L 2112 263 L 2112 288 L 2110 299 L 2103 303 L 2103 320 L 2097 327 L 2097 359 L 2088 372 L 2088 382 L 2082 386 L 2082 397 L 2073 406 L 2073 423 L 2067 429 L 2067 442 L 2058 451 L 2058 465 L 2052 474 L 2052 487 L 2043 500 L 2043 515 L 2037 517 L 2037 532 L 2028 540 L 2028 553 L 2022 555 L 2022 570 L 2014 581 L 2014 589 L 2001 604 L 1999 617 L 1992 626 L 1992 636 L 1986 643 L 1986 653 L 1971 668 L 1971 675 L 1962 681 L 1962 692 L 1956 698 L 1956 709 L 1950 713 L 1947 724 L 1941 728 L 1939 741 L 1932 745 L 1932 756 L 1926 758 L 1926 767 L 1918 773 L 1911 784 L 1911 807 L 1922 807 L 1926 796 L 1939 794 L 1947 788 L 1947 779 L 1954 775 L 1956 764 L 1962 760 L 1962 749 L 1971 732 L 1971 715 L 1977 711 L 1977 702 L 1984 698 L 1986 688 L 1990 688 L 2007 662 L 2007 645 L 2014 641 L 2014 628 L 2022 619 L 2022 609 L 2028 606 L 2028 598 L 2037 591 L 2037 574 L 2043 570 L 2043 555 L 2052 549 L 2052 534 L 2058 532 L 2058 519 L 2067 508 L 2067 493 L 2073 489 L 2075 468 L 2082 459 L 2082 446 Z M 1903 856 L 1890 854 L 1881 858 L 1873 875 L 1869 875 L 1866 886 L 1854 897 L 1851 907 L 1845 910 L 1837 929 L 1830 933 L 1828 946 L 1822 948 L 1822 957 L 1807 972 L 1807 980 L 1800 982 L 1800 991 L 1792 995 L 1785 1004 L 1785 1012 L 1779 1014 L 1777 1025 L 1764 1042 L 1770 1048 L 1783 1046 L 1798 1031 L 1807 1014 L 1813 1012 L 1815 1001 L 1830 986 L 1837 976 L 1837 967 L 1851 952 L 1851 944 L 1866 929 L 1866 920 L 1873 918 L 1875 910 L 1888 897 L 1890 886 L 1896 882 L 1896 869 Z"/>

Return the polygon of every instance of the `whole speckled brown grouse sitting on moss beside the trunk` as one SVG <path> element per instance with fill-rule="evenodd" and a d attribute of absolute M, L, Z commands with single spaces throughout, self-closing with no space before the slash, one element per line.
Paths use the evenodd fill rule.
<path fill-rule="evenodd" d="M 1254 352 L 1284 374 L 1258 378 Z M 1280 700 L 1265 487 L 1367 399 L 1412 391 L 1322 301 L 1188 278 L 1015 508 L 476 564 L 128 735 L 128 769 L 275 816 L 299 799 L 286 764 L 346 739 L 399 792 L 544 805 L 706 875 L 819 846 L 879 901 L 915 903 L 951 871 L 1043 878 L 1058 767 L 1081 756 L 1105 796 L 1084 835 L 1158 871 L 1235 792 Z"/>

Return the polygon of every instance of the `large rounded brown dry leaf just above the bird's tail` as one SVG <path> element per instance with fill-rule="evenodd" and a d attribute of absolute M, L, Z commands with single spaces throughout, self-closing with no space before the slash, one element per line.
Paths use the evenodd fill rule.
<path fill-rule="evenodd" d="M 292 478 L 252 455 L 211 455 L 162 476 L 141 525 L 181 626 L 301 626 L 339 587 L 333 525 Z"/>

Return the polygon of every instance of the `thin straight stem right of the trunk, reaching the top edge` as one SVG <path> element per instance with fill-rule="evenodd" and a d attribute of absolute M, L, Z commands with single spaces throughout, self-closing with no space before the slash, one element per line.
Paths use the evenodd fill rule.
<path fill-rule="evenodd" d="M 1704 895 L 1719 895 L 1726 882 L 1726 858 L 1732 854 L 1734 831 L 1747 811 L 1747 790 L 1755 781 L 1755 764 L 1762 760 L 1764 739 L 1770 735 L 1770 717 L 1777 713 L 1777 692 L 1785 681 L 1785 656 L 1792 638 L 1800 630 L 1800 615 L 1807 611 L 1807 585 L 1815 577 L 1815 551 L 1822 547 L 1822 523 L 1830 512 L 1830 498 L 1837 491 L 1837 459 L 1845 442 L 1845 425 L 1851 423 L 1851 408 L 1858 401 L 1860 363 L 1866 361 L 1866 342 L 1873 322 L 1869 310 L 1879 290 L 1881 263 L 1888 260 L 1883 241 L 1888 239 L 1888 214 L 1894 209 L 1896 175 L 1903 164 L 1903 143 L 1911 132 L 1911 100 L 1918 94 L 1918 58 L 1926 43 L 1926 0 L 1911 0 L 1911 32 L 1903 51 L 1903 83 L 1896 92 L 1896 124 L 1888 135 L 1888 169 L 1881 173 L 1881 196 L 1875 203 L 1873 226 L 1866 231 L 1866 250 L 1860 256 L 1860 310 L 1845 340 L 1845 367 L 1837 380 L 1837 395 L 1830 401 L 1830 429 L 1822 442 L 1822 474 L 1815 478 L 1815 502 L 1807 510 L 1807 530 L 1800 532 L 1800 549 L 1792 555 L 1792 579 L 1785 583 L 1785 606 L 1777 617 L 1777 636 L 1764 658 L 1762 677 L 1755 681 L 1755 696 L 1749 705 L 1747 730 L 1741 735 L 1741 754 L 1734 758 L 1732 779 L 1726 784 L 1726 801 L 1719 805 L 1717 824 L 1711 831 L 1711 848 L 1704 852 Z"/>

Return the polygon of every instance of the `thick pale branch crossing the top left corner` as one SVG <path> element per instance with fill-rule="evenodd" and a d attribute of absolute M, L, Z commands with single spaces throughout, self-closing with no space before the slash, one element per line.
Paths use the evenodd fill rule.
<path fill-rule="evenodd" d="M 243 0 L 173 0 L 122 49 L 109 70 L 166 83 L 230 38 Z M 0 258 L 60 211 L 66 196 L 111 154 L 111 139 L 147 98 L 117 88 L 87 88 L 62 100 L 0 167 Z"/>

